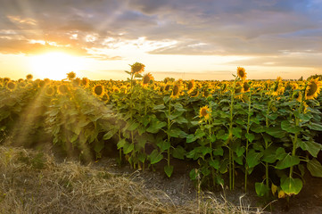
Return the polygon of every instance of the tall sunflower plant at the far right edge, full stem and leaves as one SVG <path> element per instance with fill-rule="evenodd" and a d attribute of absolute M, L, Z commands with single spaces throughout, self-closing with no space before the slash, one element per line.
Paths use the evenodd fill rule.
<path fill-rule="evenodd" d="M 316 159 L 322 145 L 314 139 L 316 132 L 322 131 L 321 112 L 314 108 L 319 105 L 315 98 L 318 97 L 321 86 L 318 78 L 306 81 L 305 86 L 294 92 L 297 96 L 293 96 L 293 102 L 287 103 L 293 114 L 281 121 L 281 128 L 287 132 L 291 144 L 285 148 L 286 151 L 284 148 L 279 149 L 281 156 L 276 169 L 283 169 L 285 172 L 280 178 L 280 191 L 288 199 L 301 192 L 305 172 L 303 163 L 306 163 L 306 168 L 313 177 L 322 177 L 322 166 Z"/>

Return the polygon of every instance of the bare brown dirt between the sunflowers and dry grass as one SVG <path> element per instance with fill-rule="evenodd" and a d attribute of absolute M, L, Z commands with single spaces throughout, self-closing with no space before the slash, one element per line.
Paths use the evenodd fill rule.
<path fill-rule="evenodd" d="M 164 191 L 170 197 L 171 201 L 176 205 L 185 204 L 188 201 L 194 200 L 197 197 L 197 190 L 194 183 L 189 178 L 189 172 L 194 169 L 194 162 L 173 160 L 171 162 L 175 166 L 172 177 L 166 177 L 162 172 L 162 163 L 154 169 L 135 170 L 130 169 L 128 164 L 123 167 L 117 164 L 115 159 L 104 158 L 94 162 L 93 166 L 106 167 L 113 170 L 115 173 L 125 173 L 136 177 L 137 180 L 143 180 L 144 185 L 149 189 L 157 189 Z M 227 200 L 234 203 L 236 206 L 250 206 L 264 208 L 268 213 L 288 213 L 288 214 L 315 214 L 322 213 L 322 178 L 311 177 L 310 173 L 306 173 L 305 183 L 301 193 L 291 197 L 289 202 L 286 199 L 269 199 L 264 201 L 258 197 L 252 188 L 252 182 L 249 185 L 248 193 L 244 193 L 244 176 L 236 177 L 236 185 L 234 191 L 229 191 L 228 187 L 218 187 L 215 191 L 203 190 L 203 197 L 216 196 L 219 200 Z M 162 197 L 162 196 L 161 196 Z"/>

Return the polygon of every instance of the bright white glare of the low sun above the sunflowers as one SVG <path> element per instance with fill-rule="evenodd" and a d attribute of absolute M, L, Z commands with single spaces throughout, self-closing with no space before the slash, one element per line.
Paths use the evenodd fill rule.
<path fill-rule="evenodd" d="M 66 78 L 66 74 L 70 71 L 74 71 L 77 74 L 78 70 L 83 67 L 81 58 L 60 52 L 32 56 L 30 62 L 31 69 L 37 77 L 54 80 Z"/>

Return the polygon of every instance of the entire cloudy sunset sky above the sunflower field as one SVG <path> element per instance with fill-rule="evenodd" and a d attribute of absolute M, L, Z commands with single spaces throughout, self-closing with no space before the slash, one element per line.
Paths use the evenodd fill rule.
<path fill-rule="evenodd" d="M 0 78 L 322 74 L 322 0 L 0 0 Z"/>

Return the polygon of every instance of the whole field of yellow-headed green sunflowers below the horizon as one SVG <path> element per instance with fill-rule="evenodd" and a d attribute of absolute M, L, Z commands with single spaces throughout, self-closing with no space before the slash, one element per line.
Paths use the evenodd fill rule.
<path fill-rule="evenodd" d="M 0 144 L 51 141 L 88 160 L 112 149 L 133 169 L 163 161 L 167 177 L 174 159 L 195 161 L 194 181 L 234 189 L 243 174 L 245 191 L 279 198 L 300 193 L 304 173 L 322 177 L 318 78 L 247 80 L 238 67 L 231 81 L 154 81 L 130 69 L 126 81 L 0 78 Z"/>

